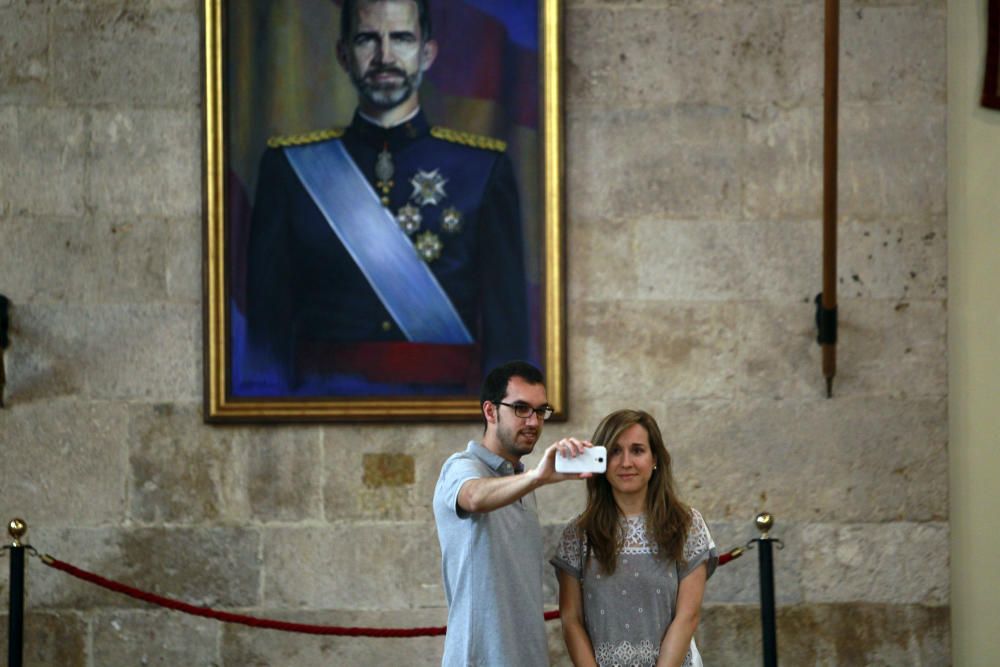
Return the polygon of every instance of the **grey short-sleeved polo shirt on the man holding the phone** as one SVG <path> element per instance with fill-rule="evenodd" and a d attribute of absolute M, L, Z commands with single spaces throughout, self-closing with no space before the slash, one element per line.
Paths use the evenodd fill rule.
<path fill-rule="evenodd" d="M 472 441 L 441 467 L 434 489 L 434 520 L 448 600 L 444 667 L 545 667 L 542 618 L 542 529 L 535 494 L 483 514 L 458 507 L 470 479 L 518 470 Z"/>

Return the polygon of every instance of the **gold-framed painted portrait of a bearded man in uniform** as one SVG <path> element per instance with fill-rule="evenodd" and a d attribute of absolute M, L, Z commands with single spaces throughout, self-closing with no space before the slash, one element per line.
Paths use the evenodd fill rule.
<path fill-rule="evenodd" d="M 205 418 L 565 417 L 559 0 L 205 0 Z"/>

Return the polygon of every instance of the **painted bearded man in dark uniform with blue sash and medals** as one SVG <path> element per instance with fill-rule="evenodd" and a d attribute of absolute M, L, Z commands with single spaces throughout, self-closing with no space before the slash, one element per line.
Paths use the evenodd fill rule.
<path fill-rule="evenodd" d="M 345 0 L 350 126 L 272 139 L 248 253 L 261 393 L 468 394 L 529 355 L 520 207 L 503 142 L 431 127 L 426 0 Z"/>

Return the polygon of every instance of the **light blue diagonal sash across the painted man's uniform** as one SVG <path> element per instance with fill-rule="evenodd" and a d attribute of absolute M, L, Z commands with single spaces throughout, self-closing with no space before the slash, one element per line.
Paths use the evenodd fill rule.
<path fill-rule="evenodd" d="M 285 155 L 375 294 L 414 343 L 472 343 L 448 295 L 348 155 L 343 142 L 288 146 Z"/>

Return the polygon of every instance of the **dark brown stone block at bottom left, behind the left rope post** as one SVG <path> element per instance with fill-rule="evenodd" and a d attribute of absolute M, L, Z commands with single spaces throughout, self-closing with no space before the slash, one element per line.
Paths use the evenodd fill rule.
<path fill-rule="evenodd" d="M 6 597 L 4 598 L 6 600 Z M 0 614 L 0 646 L 7 646 L 5 613 Z M 87 622 L 74 612 L 48 613 L 25 610 L 24 667 L 88 667 Z M 6 652 L 6 649 L 5 649 Z"/>

